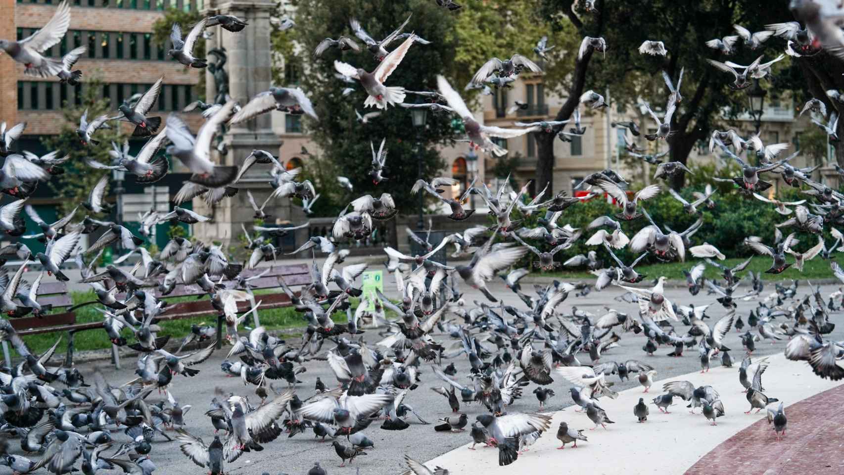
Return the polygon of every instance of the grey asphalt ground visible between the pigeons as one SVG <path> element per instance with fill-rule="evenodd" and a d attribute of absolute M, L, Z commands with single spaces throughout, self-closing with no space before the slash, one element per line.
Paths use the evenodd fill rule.
<path fill-rule="evenodd" d="M 387 283 L 387 294 L 394 295 L 394 285 Z M 532 285 L 526 285 L 526 288 Z M 642 286 L 646 287 L 646 286 Z M 484 297 L 480 292 L 473 289 L 466 289 L 463 298 L 468 305 L 472 305 L 473 300 L 483 300 Z M 500 281 L 490 283 L 492 293 L 504 300 L 509 305 L 522 305 L 521 301 L 517 299 L 515 294 L 506 289 Z M 835 290 L 833 286 L 825 286 L 822 288 L 824 294 L 829 294 Z M 773 284 L 766 285 L 763 295 L 770 294 L 773 291 Z M 798 296 L 803 296 L 809 291 L 804 284 L 798 289 Z M 576 297 L 571 294 L 568 300 L 565 300 L 558 310 L 565 314 L 571 313 L 571 306 L 575 305 L 578 309 L 587 310 L 594 313 L 596 316 L 603 315 L 603 307 L 609 306 L 621 311 L 636 313 L 636 305 L 614 300 L 614 297 L 623 294 L 622 289 L 609 288 L 602 292 L 592 291 L 586 297 Z M 724 309 L 714 302 L 714 295 L 706 295 L 706 291 L 701 291 L 697 296 L 691 296 L 685 289 L 667 289 L 665 292 L 669 300 L 676 301 L 680 305 L 706 305 L 713 303 L 707 314 L 711 316 L 711 320 L 707 320 L 710 324 L 717 321 L 717 318 L 724 315 Z M 758 300 L 739 301 L 738 315 L 742 316 L 745 323 L 750 309 L 757 305 Z M 783 321 L 782 317 L 777 318 L 774 322 L 778 324 Z M 836 314 L 833 315 L 832 321 L 836 321 Z M 678 332 L 686 332 L 688 327 L 681 323 L 676 324 Z M 700 362 L 697 356 L 696 348 L 688 348 L 682 358 L 670 358 L 666 356 L 673 348 L 660 347 L 655 356 L 647 356 L 642 350 L 642 346 L 646 342 L 642 334 L 635 335 L 632 332 L 624 333 L 616 327 L 616 332 L 620 334 L 619 348 L 612 348 L 603 354 L 600 362 L 607 360 L 625 361 L 626 359 L 640 359 L 652 364 L 657 370 L 657 378 L 664 379 L 674 375 L 684 375 L 691 371 L 700 370 Z M 744 351 L 738 337 L 738 332 L 734 329 L 728 333 L 724 343 L 733 348 L 733 360 L 736 364 L 742 359 Z M 376 343 L 381 337 L 376 330 L 367 330 L 364 335 L 368 344 Z M 839 325 L 836 331 L 830 337 L 841 340 L 844 338 L 844 331 Z M 436 340 L 441 343 L 449 343 L 451 340 L 447 335 L 435 335 Z M 785 346 L 787 337 L 775 344 L 760 342 L 757 343 L 755 356 L 762 356 L 766 354 L 781 353 Z M 323 350 L 331 348 L 332 344 L 328 343 L 323 347 Z M 236 395 L 248 396 L 253 402 L 258 399 L 254 395 L 254 386 L 244 386 L 238 378 L 230 378 L 224 375 L 220 370 L 220 362 L 225 359 L 225 354 L 228 348 L 213 354 L 208 361 L 197 365 L 195 368 L 201 370 L 200 374 L 188 378 L 181 375 L 176 375 L 171 386 L 171 391 L 182 405 L 189 404 L 192 410 L 187 414 L 187 426 L 185 429 L 190 431 L 193 435 L 203 438 L 206 443 L 210 443 L 214 437 L 214 429 L 210 424 L 208 417 L 204 412 L 208 410 L 208 403 L 214 397 L 214 388 L 222 388 L 225 392 L 234 392 Z M 588 355 L 582 354 L 581 359 L 588 361 Z M 468 378 L 468 359 L 465 356 L 458 356 L 452 360 L 443 360 L 443 365 L 453 362 L 457 366 L 459 381 L 466 381 Z M 719 361 L 713 361 L 712 367 L 717 368 Z M 107 362 L 97 362 L 95 364 L 84 364 L 79 367 L 84 374 L 88 375 L 95 370 L 100 370 L 114 386 L 122 385 L 123 383 L 133 379 L 133 365 L 130 361 L 124 361 L 124 370 L 119 372 L 113 370 Z M 317 376 L 324 381 L 328 386 L 336 384 L 336 379 L 333 376 L 328 365 L 324 361 L 310 361 L 305 364 L 306 372 L 300 375 L 300 380 L 304 381 L 296 388 L 297 393 L 301 398 L 310 397 L 314 393 L 314 382 Z M 425 420 L 431 424 L 420 424 L 419 421 L 410 416 L 407 420 L 410 424 L 408 429 L 403 431 L 387 431 L 380 429 L 381 422 L 371 424 L 369 429 L 366 429 L 365 435 L 375 442 L 374 448 L 366 449 L 367 455 L 359 456 L 351 467 L 338 468 L 340 459 L 336 455 L 333 446 L 329 443 L 321 443 L 316 440 L 313 434 L 309 431 L 304 435 L 295 435 L 295 437 L 288 438 L 287 435 L 282 435 L 279 439 L 274 440 L 264 445 L 264 450 L 260 452 L 246 453 L 237 461 L 227 464 L 225 471 L 231 474 L 240 473 L 254 473 L 260 474 L 262 472 L 269 472 L 272 475 L 277 473 L 289 474 L 305 474 L 314 462 L 321 462 L 323 467 L 327 467 L 328 472 L 332 474 L 354 474 L 360 468 L 361 474 L 372 475 L 387 475 L 405 472 L 407 467 L 403 462 L 403 454 L 408 454 L 414 459 L 422 462 L 428 461 L 446 453 L 454 448 L 464 445 L 471 441 L 468 431 L 462 433 L 437 433 L 434 431 L 434 425 L 438 418 L 451 415 L 451 410 L 445 397 L 430 391 L 431 386 L 441 386 L 436 375 L 430 370 L 430 364 L 423 364 L 422 382 L 419 387 L 410 391 L 405 403 L 412 406 L 417 413 L 419 413 Z M 806 371 L 810 371 L 809 367 L 805 367 Z M 571 405 L 571 398 L 569 397 L 568 388 L 571 386 L 567 381 L 563 380 L 559 375 L 553 375 L 555 381 L 549 387 L 556 392 L 555 397 L 551 397 L 545 411 L 554 411 L 556 409 L 565 408 Z M 624 390 L 630 387 L 638 386 L 636 378 L 630 381 L 618 381 L 616 376 L 610 376 L 610 381 L 615 381 L 614 389 Z M 738 374 L 736 375 L 736 384 L 738 384 Z M 284 387 L 285 383 L 282 381 L 275 385 L 276 387 Z M 523 388 L 523 397 L 517 400 L 513 405 L 506 408 L 508 413 L 520 412 L 534 412 L 538 410 L 538 402 L 532 391 L 536 387 L 533 383 L 530 386 Z M 653 392 L 657 392 L 657 387 L 652 388 Z M 164 395 L 153 393 L 150 399 L 157 400 L 164 398 Z M 477 404 L 461 405 L 461 412 L 467 413 L 470 421 L 473 421 L 475 416 L 487 413 L 486 409 Z M 555 428 L 552 428 L 555 430 Z M 553 435 L 551 435 L 553 437 Z M 125 435 L 116 435 L 116 445 L 127 440 Z M 116 446 L 115 445 L 115 446 Z M 19 445 L 13 444 L 13 448 L 17 449 L 19 453 Z M 486 452 L 486 451 L 484 451 Z M 497 451 L 489 450 L 486 454 L 490 459 L 497 457 Z M 176 442 L 165 442 L 156 439 L 151 453 L 152 460 L 158 467 L 159 473 L 204 473 L 205 469 L 197 467 L 186 456 L 181 454 L 179 446 Z M 3 467 L 5 468 L 5 467 Z M 518 465 L 513 466 L 517 470 Z"/>

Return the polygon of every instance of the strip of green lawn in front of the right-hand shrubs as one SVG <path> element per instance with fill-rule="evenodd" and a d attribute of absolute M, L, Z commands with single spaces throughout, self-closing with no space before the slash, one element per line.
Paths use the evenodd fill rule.
<path fill-rule="evenodd" d="M 746 259 L 746 257 L 744 259 Z M 744 262 L 744 259 L 725 259 L 724 261 L 718 262 L 725 267 L 733 267 L 739 262 Z M 648 266 L 637 266 L 636 272 L 646 275 L 647 281 L 650 281 L 654 278 L 658 278 L 659 276 L 665 276 L 668 279 L 684 280 L 685 276 L 683 275 L 683 271 L 688 271 L 692 267 L 695 267 L 695 264 L 697 264 L 697 262 L 703 261 L 693 257 L 691 261 L 687 262 L 664 262 Z M 793 262 L 793 260 L 789 259 L 788 262 Z M 804 280 L 807 278 L 835 278 L 835 276 L 832 275 L 832 270 L 830 269 L 830 262 L 824 261 L 823 259 L 820 259 L 820 257 L 815 257 L 811 261 L 806 262 L 803 265 L 802 273 L 793 267 L 789 267 L 784 272 L 779 274 L 766 274 L 765 271 L 769 267 L 771 267 L 771 257 L 755 256 L 753 258 L 753 261 L 750 261 L 749 266 L 741 273 L 738 273 L 738 275 L 744 277 L 744 274 L 746 274 L 748 271 L 753 271 L 755 273 L 761 272 L 763 281 L 791 279 Z M 557 273 L 545 273 L 543 275 L 555 278 L 563 278 L 567 280 L 594 278 L 592 274 L 583 271 L 563 271 Z M 722 280 L 721 270 L 717 267 L 712 267 L 708 264 L 706 265 L 706 272 L 704 272 L 703 275 L 705 278 L 714 278 Z"/>

